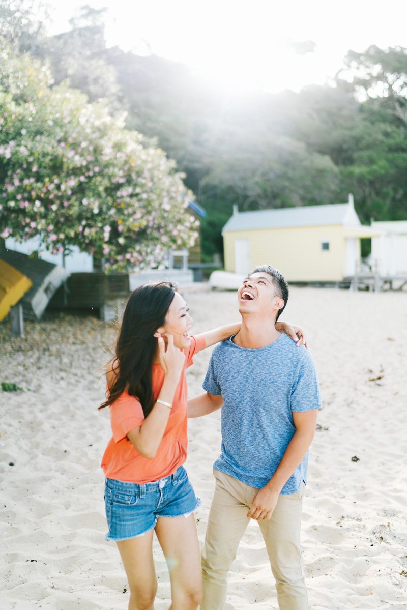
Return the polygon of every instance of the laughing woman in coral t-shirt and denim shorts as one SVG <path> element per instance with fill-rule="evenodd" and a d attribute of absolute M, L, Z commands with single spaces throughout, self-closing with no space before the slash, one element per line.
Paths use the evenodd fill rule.
<path fill-rule="evenodd" d="M 193 355 L 239 331 L 231 324 L 196 337 L 184 299 L 170 282 L 146 284 L 129 298 L 107 373 L 113 437 L 102 459 L 107 540 L 115 540 L 128 577 L 129 610 L 151 610 L 157 592 L 153 531 L 170 572 L 172 610 L 201 599 L 195 497 L 187 456 L 185 369 Z M 284 323 L 279 330 L 295 337 Z M 303 342 L 303 337 L 298 343 Z"/>

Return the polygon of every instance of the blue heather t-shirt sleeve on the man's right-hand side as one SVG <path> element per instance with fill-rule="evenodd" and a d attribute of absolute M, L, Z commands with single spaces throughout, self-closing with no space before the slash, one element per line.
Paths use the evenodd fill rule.
<path fill-rule="evenodd" d="M 305 348 L 303 348 L 305 350 Z M 321 408 L 321 397 L 314 359 L 308 351 L 301 358 L 291 392 L 291 411 L 304 412 Z"/>

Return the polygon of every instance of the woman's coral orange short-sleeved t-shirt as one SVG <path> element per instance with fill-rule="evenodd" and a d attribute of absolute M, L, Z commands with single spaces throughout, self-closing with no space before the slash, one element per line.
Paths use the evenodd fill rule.
<path fill-rule="evenodd" d="M 205 347 L 202 336 L 190 337 L 189 349 L 184 350 L 185 364 L 175 390 L 173 408 L 156 457 L 143 457 L 128 440 L 127 434 L 145 420 L 142 406 L 127 390 L 109 407 L 113 436 L 103 454 L 101 466 L 109 479 L 126 483 L 149 483 L 171 475 L 187 459 L 187 380 L 185 368 L 193 364 L 192 357 Z M 164 370 L 153 364 L 153 392 L 158 397 L 164 382 Z"/>

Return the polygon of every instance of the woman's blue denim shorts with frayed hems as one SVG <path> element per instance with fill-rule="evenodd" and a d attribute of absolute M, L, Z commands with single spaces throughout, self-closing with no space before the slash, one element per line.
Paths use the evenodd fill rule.
<path fill-rule="evenodd" d="M 159 517 L 182 517 L 201 504 L 183 466 L 159 481 L 139 485 L 106 479 L 106 540 L 127 540 L 154 529 Z"/>

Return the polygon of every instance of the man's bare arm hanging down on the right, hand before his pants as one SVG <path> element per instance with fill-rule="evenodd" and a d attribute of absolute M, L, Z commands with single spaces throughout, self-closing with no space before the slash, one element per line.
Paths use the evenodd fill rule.
<path fill-rule="evenodd" d="M 295 469 L 301 464 L 309 445 L 311 445 L 315 434 L 317 413 L 318 409 L 293 412 L 294 436 L 287 445 L 283 458 L 270 481 L 254 495 L 250 511 L 247 513 L 247 516 L 251 517 L 251 519 L 270 520 L 281 490 Z M 260 517 L 260 515 L 262 516 Z"/>

